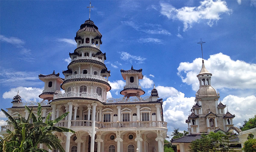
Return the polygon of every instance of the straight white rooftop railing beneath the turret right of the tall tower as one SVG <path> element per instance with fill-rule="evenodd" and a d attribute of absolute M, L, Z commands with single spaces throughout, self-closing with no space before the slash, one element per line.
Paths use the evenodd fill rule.
<path fill-rule="evenodd" d="M 151 96 L 145 97 L 120 97 L 120 98 L 109 98 L 107 99 L 106 103 L 127 103 L 127 102 L 136 102 L 136 101 L 152 101 Z"/>

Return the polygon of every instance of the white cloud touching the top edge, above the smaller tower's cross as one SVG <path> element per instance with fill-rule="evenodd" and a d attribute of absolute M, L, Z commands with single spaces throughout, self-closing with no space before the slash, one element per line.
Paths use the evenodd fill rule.
<path fill-rule="evenodd" d="M 160 2 L 160 13 L 167 16 L 168 19 L 178 19 L 183 22 L 183 31 L 192 27 L 192 23 L 199 23 L 206 20 L 211 27 L 214 21 L 218 21 L 222 13 L 229 13 L 231 9 L 227 7 L 227 3 L 221 0 L 204 0 L 200 2 L 198 7 L 182 7 L 176 9 L 171 4 Z"/>

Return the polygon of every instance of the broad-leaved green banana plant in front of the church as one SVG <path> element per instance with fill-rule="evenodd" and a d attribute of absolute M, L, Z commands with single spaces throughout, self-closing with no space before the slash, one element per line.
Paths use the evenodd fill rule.
<path fill-rule="evenodd" d="M 28 118 L 25 119 L 19 115 L 18 120 L 15 120 L 9 113 L 1 109 L 8 118 L 7 124 L 13 125 L 14 130 L 10 131 L 7 129 L 9 135 L 4 139 L 0 139 L 0 150 L 2 152 L 47 152 L 47 150 L 37 148 L 38 144 L 42 143 L 50 149 L 54 148 L 60 152 L 65 152 L 60 144 L 60 140 L 52 132 L 75 133 L 71 129 L 55 126 L 68 113 L 64 113 L 55 120 L 49 120 L 51 113 L 46 118 L 42 117 L 42 107 L 40 104 L 38 104 L 37 116 L 34 115 L 32 108 L 29 109 L 27 106 L 25 108 L 29 111 Z M 30 123 L 31 120 L 33 120 L 33 123 Z"/>

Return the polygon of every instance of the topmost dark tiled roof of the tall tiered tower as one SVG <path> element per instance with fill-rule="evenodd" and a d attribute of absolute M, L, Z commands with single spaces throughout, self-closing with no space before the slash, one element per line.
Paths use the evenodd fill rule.
<path fill-rule="evenodd" d="M 84 31 L 96 32 L 99 35 L 100 38 L 102 37 L 102 34 L 100 34 L 100 32 L 98 31 L 98 27 L 90 19 L 86 20 L 84 22 L 84 24 L 82 24 L 80 26 L 80 29 L 76 33 L 84 32 Z"/>

